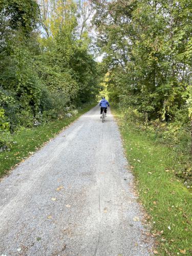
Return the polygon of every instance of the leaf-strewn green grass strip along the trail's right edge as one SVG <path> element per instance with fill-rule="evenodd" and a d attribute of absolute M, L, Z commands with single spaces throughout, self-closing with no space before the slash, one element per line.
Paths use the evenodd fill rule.
<path fill-rule="evenodd" d="M 152 225 L 151 233 L 156 238 L 159 254 L 192 255 L 192 197 L 174 175 L 175 153 L 134 123 L 124 123 L 118 110 L 112 111 L 120 127 L 139 200 L 147 212 L 147 221 Z"/>

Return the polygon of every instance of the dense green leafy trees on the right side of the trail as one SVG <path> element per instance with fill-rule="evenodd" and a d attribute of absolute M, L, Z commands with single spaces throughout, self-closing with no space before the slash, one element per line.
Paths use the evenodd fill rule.
<path fill-rule="evenodd" d="M 146 123 L 189 131 L 192 2 L 95 0 L 93 5 L 111 100 L 129 113 L 137 111 Z"/>

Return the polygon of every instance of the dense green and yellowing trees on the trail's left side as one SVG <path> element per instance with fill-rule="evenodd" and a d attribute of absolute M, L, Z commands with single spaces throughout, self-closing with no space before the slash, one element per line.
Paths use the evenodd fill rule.
<path fill-rule="evenodd" d="M 19 127 L 65 116 L 98 93 L 84 5 L 75 0 L 0 2 L 0 148 Z"/>

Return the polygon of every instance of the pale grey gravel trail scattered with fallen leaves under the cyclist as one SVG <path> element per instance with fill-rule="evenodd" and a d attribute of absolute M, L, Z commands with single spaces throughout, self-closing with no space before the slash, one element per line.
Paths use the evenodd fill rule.
<path fill-rule="evenodd" d="M 118 127 L 97 105 L 1 181 L 0 255 L 149 255 L 136 200 Z"/>

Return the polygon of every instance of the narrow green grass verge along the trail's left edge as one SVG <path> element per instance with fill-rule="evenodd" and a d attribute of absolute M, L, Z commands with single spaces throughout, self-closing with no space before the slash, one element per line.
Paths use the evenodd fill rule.
<path fill-rule="evenodd" d="M 23 129 L 13 134 L 12 139 L 16 143 L 11 146 L 10 151 L 0 153 L 0 177 L 95 105 L 96 103 L 86 106 L 76 116 L 42 124 L 34 129 Z"/>

